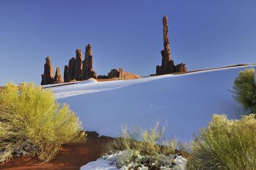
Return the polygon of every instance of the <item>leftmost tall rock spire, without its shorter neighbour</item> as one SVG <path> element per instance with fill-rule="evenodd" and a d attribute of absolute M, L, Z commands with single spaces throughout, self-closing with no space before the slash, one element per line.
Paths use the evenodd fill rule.
<path fill-rule="evenodd" d="M 42 74 L 41 85 L 51 84 L 53 81 L 53 66 L 51 63 L 51 57 L 45 58 L 44 74 Z"/>

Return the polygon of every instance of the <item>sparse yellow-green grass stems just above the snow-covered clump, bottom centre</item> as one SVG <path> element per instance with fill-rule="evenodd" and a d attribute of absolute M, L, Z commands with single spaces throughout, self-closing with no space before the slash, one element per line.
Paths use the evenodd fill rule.
<path fill-rule="evenodd" d="M 164 139 L 164 127 L 159 128 L 158 122 L 150 130 L 143 130 L 140 127 L 128 130 L 125 126 L 122 133 L 122 137 L 115 138 L 107 144 L 106 150 L 103 151 L 104 154 L 132 150 L 141 155 L 171 155 L 175 153 L 186 155 L 185 144 L 178 143 L 177 139 Z"/>

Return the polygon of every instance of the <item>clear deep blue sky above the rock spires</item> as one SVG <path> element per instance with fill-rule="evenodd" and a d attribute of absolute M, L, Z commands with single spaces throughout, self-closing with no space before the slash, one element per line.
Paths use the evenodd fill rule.
<path fill-rule="evenodd" d="M 0 0 L 0 85 L 40 84 L 45 57 L 63 74 L 92 44 L 94 69 L 149 75 L 161 64 L 164 15 L 172 59 L 188 70 L 256 63 L 255 0 Z"/>

